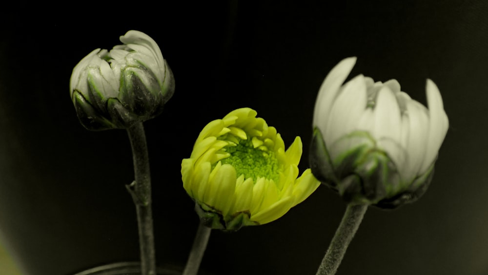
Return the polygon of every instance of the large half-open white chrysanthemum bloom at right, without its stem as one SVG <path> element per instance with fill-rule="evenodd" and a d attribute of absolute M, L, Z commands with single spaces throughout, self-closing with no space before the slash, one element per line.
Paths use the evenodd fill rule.
<path fill-rule="evenodd" d="M 342 60 L 322 84 L 313 118 L 312 173 L 346 201 L 394 208 L 427 190 L 448 128 L 437 86 L 427 108 L 395 79 L 359 75 L 342 85 L 356 58 Z"/>

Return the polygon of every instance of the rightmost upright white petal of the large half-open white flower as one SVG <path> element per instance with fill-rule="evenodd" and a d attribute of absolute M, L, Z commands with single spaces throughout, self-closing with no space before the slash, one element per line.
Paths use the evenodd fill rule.
<path fill-rule="evenodd" d="M 424 163 L 420 169 L 423 173 L 432 164 L 432 161 L 437 157 L 439 148 L 441 147 L 444 137 L 446 137 L 449 121 L 444 105 L 442 102 L 441 93 L 435 83 L 427 79 L 427 104 L 429 109 L 429 131 L 427 141 L 427 152 Z"/>

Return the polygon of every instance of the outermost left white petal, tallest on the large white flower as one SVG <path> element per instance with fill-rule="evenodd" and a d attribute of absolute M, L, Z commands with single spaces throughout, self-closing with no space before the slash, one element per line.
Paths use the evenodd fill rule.
<path fill-rule="evenodd" d="M 318 127 L 322 133 L 325 133 L 328 115 L 337 93 L 355 63 L 355 57 L 343 59 L 330 71 L 327 77 L 325 77 L 325 80 L 319 89 L 319 94 L 315 101 L 313 125 Z"/>

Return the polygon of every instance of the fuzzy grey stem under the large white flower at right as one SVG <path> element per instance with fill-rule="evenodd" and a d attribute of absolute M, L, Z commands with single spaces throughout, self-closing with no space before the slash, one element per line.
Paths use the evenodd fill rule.
<path fill-rule="evenodd" d="M 316 275 L 334 275 L 341 264 L 352 238 L 356 234 L 367 205 L 347 205 L 341 224 L 330 242 Z"/>

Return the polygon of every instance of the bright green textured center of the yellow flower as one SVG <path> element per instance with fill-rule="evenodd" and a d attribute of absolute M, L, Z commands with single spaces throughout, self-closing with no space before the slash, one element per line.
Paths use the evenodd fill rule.
<path fill-rule="evenodd" d="M 224 150 L 230 157 L 222 159 L 222 164 L 232 165 L 237 177 L 244 174 L 244 178 L 265 177 L 278 182 L 280 178 L 278 159 L 275 153 L 266 150 L 264 146 L 254 148 L 251 138 L 240 139 L 236 146 L 225 146 Z"/>

